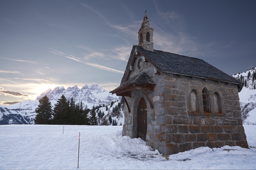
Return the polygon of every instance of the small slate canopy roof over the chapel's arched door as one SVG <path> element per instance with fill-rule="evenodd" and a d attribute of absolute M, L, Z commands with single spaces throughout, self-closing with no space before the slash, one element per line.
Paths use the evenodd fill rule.
<path fill-rule="evenodd" d="M 155 84 L 150 77 L 147 76 L 145 72 L 141 72 L 139 75 L 131 77 L 129 80 L 121 84 L 119 87 L 112 91 L 116 91 L 118 89 L 121 89 L 122 87 L 125 87 L 129 84 Z"/>

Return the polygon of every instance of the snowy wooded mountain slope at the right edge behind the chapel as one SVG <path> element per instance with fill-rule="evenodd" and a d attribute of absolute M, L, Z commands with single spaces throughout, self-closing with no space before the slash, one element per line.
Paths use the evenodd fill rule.
<path fill-rule="evenodd" d="M 244 83 L 244 87 L 239 92 L 242 119 L 244 124 L 256 125 L 256 67 L 232 77 Z"/>

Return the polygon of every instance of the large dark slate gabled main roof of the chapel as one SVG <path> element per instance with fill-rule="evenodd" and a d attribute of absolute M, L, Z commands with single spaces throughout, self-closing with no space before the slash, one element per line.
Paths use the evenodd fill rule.
<path fill-rule="evenodd" d="M 152 63 L 155 68 L 162 72 L 169 72 L 172 74 L 203 78 L 208 80 L 222 81 L 227 83 L 238 84 L 242 86 L 242 82 L 232 78 L 220 69 L 210 65 L 202 59 L 182 56 L 174 53 L 163 52 L 160 50 L 148 51 L 141 46 L 134 45 L 131 56 L 127 63 L 121 84 L 123 84 L 129 76 L 130 65 L 134 62 L 134 53 L 137 51 L 146 60 Z"/>

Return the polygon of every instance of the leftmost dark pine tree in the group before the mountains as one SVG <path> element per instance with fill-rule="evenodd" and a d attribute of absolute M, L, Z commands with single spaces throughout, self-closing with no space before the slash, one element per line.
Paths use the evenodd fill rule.
<path fill-rule="evenodd" d="M 52 104 L 45 95 L 39 100 L 39 105 L 35 109 L 37 115 L 35 116 L 35 124 L 49 125 L 52 119 Z"/>

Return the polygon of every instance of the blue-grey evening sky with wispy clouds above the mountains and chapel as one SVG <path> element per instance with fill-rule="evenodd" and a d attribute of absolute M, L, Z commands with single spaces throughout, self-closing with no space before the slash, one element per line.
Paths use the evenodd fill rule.
<path fill-rule="evenodd" d="M 154 48 L 229 75 L 256 66 L 256 1 L 12 1 L 0 5 L 0 104 L 48 88 L 120 85 L 145 10 Z"/>

